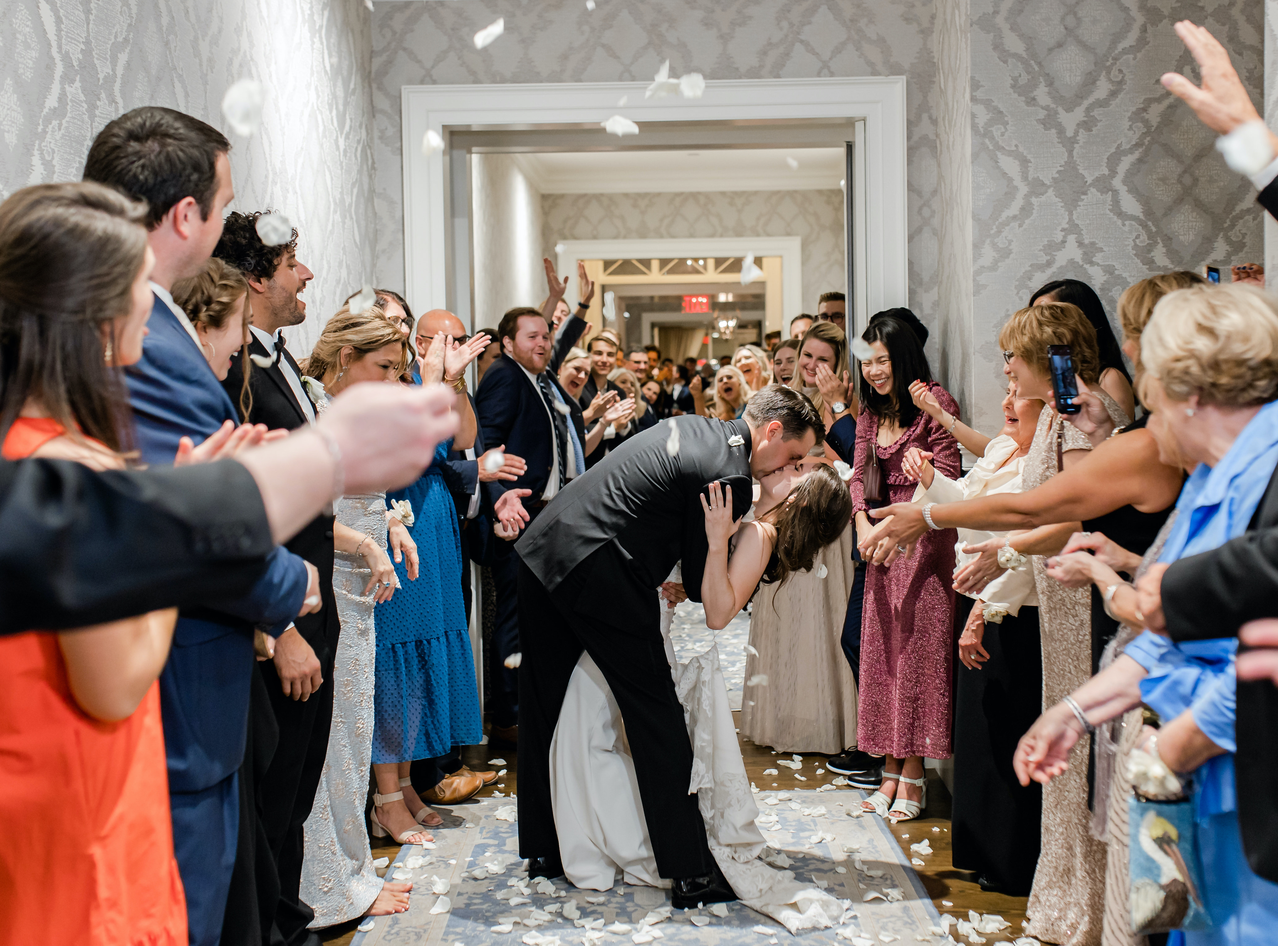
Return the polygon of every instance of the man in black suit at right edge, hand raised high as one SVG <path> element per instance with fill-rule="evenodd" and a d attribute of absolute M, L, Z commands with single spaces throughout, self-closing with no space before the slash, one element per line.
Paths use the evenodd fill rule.
<path fill-rule="evenodd" d="M 1176 24 L 1199 65 L 1201 87 L 1168 73 L 1163 84 L 1182 98 L 1208 128 L 1220 136 L 1259 123 L 1247 89 L 1229 63 L 1229 54 L 1203 27 Z M 1278 136 L 1268 133 L 1269 165 L 1251 174 L 1260 206 L 1278 219 Z M 1278 615 L 1278 474 L 1260 500 L 1249 531 L 1219 548 L 1153 566 L 1143 579 L 1154 602 L 1141 611 L 1150 630 L 1174 640 L 1237 633 L 1246 624 Z M 1269 679 L 1243 679 L 1237 690 L 1238 826 L 1251 869 L 1278 882 L 1278 688 Z"/>

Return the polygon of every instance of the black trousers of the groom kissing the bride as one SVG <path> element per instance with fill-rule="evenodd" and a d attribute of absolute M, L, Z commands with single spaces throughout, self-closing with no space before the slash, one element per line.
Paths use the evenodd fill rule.
<path fill-rule="evenodd" d="M 519 562 L 519 854 L 557 858 L 550 749 L 581 651 L 603 671 L 626 726 L 648 836 L 662 877 L 709 873 L 713 858 L 697 795 L 693 748 L 666 662 L 657 591 L 636 584 L 616 541 L 555 589 Z"/>

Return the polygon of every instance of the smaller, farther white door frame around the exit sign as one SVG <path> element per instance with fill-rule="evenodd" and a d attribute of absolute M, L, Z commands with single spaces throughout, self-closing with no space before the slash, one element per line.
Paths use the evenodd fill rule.
<path fill-rule="evenodd" d="M 576 272 L 578 260 L 668 260 L 671 257 L 728 257 L 754 253 L 781 257 L 782 334 L 789 337 L 790 320 L 803 312 L 803 238 L 801 236 L 708 236 L 705 239 L 620 239 L 620 240 L 560 240 L 555 244 L 556 265 L 560 272 Z M 607 285 L 607 276 L 603 283 Z M 697 276 L 689 275 L 688 283 Z M 576 280 L 569 281 L 567 294 L 576 302 Z M 713 291 L 730 293 L 736 283 L 716 283 Z"/>

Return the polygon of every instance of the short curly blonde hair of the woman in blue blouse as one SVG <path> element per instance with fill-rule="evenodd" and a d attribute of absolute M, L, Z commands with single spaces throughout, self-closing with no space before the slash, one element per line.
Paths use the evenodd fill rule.
<path fill-rule="evenodd" d="M 1154 306 L 1141 363 L 1172 400 L 1242 408 L 1278 396 L 1278 299 L 1256 286 L 1197 285 Z"/>

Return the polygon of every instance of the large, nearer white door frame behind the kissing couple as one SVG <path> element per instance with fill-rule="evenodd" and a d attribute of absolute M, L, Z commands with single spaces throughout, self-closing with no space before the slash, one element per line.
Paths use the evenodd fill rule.
<path fill-rule="evenodd" d="M 639 123 L 640 139 L 644 121 L 864 119 L 865 238 L 863 245 L 855 248 L 855 256 L 858 265 L 864 260 L 865 306 L 869 312 L 877 312 L 909 303 L 904 75 L 709 81 L 704 96 L 691 100 L 670 96 L 645 101 L 643 89 L 644 83 L 634 82 L 404 86 L 400 98 L 404 272 L 405 291 L 413 307 L 424 312 L 447 304 L 447 139 L 451 129 L 597 124 L 619 111 Z M 622 95 L 633 104 L 619 109 L 617 100 Z M 426 157 L 420 147 L 427 130 L 445 139 L 443 151 L 431 157 Z M 601 142 L 607 141 L 604 134 L 599 128 Z M 625 141 L 630 144 L 636 139 L 627 137 Z M 861 150 L 860 142 L 858 150 Z M 464 173 L 464 169 L 452 171 Z M 791 312 L 789 304 L 786 309 Z"/>

